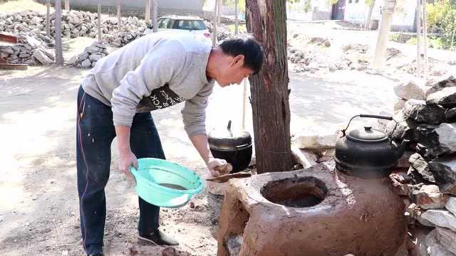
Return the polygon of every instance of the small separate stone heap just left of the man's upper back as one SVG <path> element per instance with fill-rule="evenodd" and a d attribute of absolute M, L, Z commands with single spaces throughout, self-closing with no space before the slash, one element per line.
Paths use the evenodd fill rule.
<path fill-rule="evenodd" d="M 94 42 L 92 46 L 86 47 L 83 53 L 68 60 L 67 64 L 76 68 L 93 68 L 105 55 L 108 55 L 108 48 L 103 43 Z"/>

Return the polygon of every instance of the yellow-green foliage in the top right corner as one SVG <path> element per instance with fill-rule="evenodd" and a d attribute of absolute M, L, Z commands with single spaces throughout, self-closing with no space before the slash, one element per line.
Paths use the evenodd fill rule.
<path fill-rule="evenodd" d="M 432 33 L 441 35 L 440 41 L 444 46 L 454 46 L 456 33 L 456 2 L 452 0 L 437 0 L 427 4 L 427 26 Z"/>

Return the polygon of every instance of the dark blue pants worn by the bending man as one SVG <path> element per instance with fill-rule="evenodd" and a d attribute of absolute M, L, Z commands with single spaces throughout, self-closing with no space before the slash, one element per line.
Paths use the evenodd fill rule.
<path fill-rule="evenodd" d="M 111 142 L 115 137 L 113 112 L 99 100 L 78 91 L 76 130 L 77 169 L 81 233 L 87 254 L 100 252 L 106 218 L 105 186 L 111 162 Z M 160 137 L 150 112 L 135 114 L 130 131 L 130 146 L 139 159 L 165 159 Z M 139 233 L 152 233 L 158 228 L 160 208 L 138 197 Z"/>

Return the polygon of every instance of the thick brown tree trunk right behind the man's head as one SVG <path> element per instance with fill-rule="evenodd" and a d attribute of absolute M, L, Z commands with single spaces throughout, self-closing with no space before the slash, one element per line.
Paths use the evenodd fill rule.
<path fill-rule="evenodd" d="M 249 78 L 259 174 L 292 168 L 285 5 L 247 0 L 247 28 L 264 49 L 261 72 Z"/>

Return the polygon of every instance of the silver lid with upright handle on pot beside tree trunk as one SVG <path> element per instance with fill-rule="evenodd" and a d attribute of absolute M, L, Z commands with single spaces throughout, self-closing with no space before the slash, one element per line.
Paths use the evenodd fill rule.
<path fill-rule="evenodd" d="M 231 128 L 231 121 L 224 129 L 214 129 L 207 136 L 209 146 L 237 147 L 252 144 L 249 132 Z"/>

